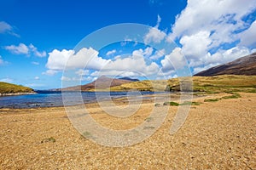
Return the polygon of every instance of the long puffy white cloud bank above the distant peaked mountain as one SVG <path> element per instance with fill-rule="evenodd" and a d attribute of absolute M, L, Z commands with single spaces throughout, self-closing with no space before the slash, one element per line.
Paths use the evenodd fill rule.
<path fill-rule="evenodd" d="M 73 69 L 77 70 L 74 73 L 80 77 L 85 75 L 88 77 L 89 75 L 90 77 L 98 77 L 99 75 L 114 76 L 124 72 L 130 72 L 129 76 L 138 75 L 139 73 L 154 75 L 159 70 L 159 65 L 145 60 L 145 58 L 153 54 L 153 51 L 154 49 L 149 47 L 145 49 L 140 48 L 134 50 L 131 56 L 125 58 L 117 56 L 113 57 L 113 59 L 102 59 L 102 57 L 98 56 L 99 53 L 93 48 L 81 48 L 76 54 L 73 50 L 63 49 L 59 51 L 55 49 L 49 53 L 46 64 L 46 68 L 49 70 L 44 72 L 44 74 L 54 75 L 65 69 Z M 89 70 L 93 70 L 94 72 L 90 74 Z"/>

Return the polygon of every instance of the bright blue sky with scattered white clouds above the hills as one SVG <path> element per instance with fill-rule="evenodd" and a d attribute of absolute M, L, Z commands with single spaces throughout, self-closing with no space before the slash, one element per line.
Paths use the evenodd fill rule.
<path fill-rule="evenodd" d="M 101 75 L 172 78 L 186 62 L 194 74 L 255 52 L 255 18 L 255 0 L 1 1 L 0 81 L 47 89 Z M 152 28 L 141 35 L 144 44 L 124 35 L 123 42 L 101 49 L 75 49 L 90 33 L 121 23 Z M 81 65 L 91 54 L 96 56 Z M 62 75 L 65 65 L 72 77 Z"/>

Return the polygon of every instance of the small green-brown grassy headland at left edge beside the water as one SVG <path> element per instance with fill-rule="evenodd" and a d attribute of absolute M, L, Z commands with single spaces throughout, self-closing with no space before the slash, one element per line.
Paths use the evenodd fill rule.
<path fill-rule="evenodd" d="M 0 82 L 0 94 L 18 94 L 18 93 L 32 93 L 32 88 L 11 84 L 8 82 Z"/>

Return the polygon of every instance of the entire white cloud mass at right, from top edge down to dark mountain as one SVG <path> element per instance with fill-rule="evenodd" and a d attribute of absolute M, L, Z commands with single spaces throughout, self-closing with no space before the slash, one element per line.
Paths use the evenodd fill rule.
<path fill-rule="evenodd" d="M 188 0 L 167 40 L 180 42 L 194 72 L 230 62 L 253 52 L 256 22 L 245 18 L 255 9 L 256 0 Z"/>

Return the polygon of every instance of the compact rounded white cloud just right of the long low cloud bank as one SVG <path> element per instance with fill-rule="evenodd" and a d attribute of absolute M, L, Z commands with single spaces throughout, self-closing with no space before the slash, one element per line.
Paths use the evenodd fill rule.
<path fill-rule="evenodd" d="M 173 71 L 183 68 L 187 62 L 181 48 L 174 48 L 171 54 L 167 54 L 161 61 L 162 71 Z"/>

